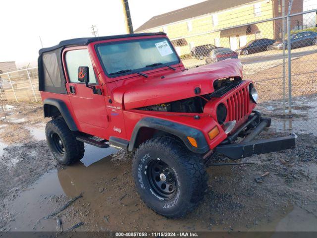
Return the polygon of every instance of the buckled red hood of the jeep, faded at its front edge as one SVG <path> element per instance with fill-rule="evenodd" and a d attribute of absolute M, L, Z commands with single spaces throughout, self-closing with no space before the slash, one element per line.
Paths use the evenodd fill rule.
<path fill-rule="evenodd" d="M 213 81 L 220 78 L 239 76 L 242 78 L 242 64 L 238 59 L 228 59 L 201 67 L 160 76 L 127 82 L 113 90 L 113 99 L 124 103 L 124 108 L 135 109 L 160 103 L 167 103 L 214 91 Z"/>

